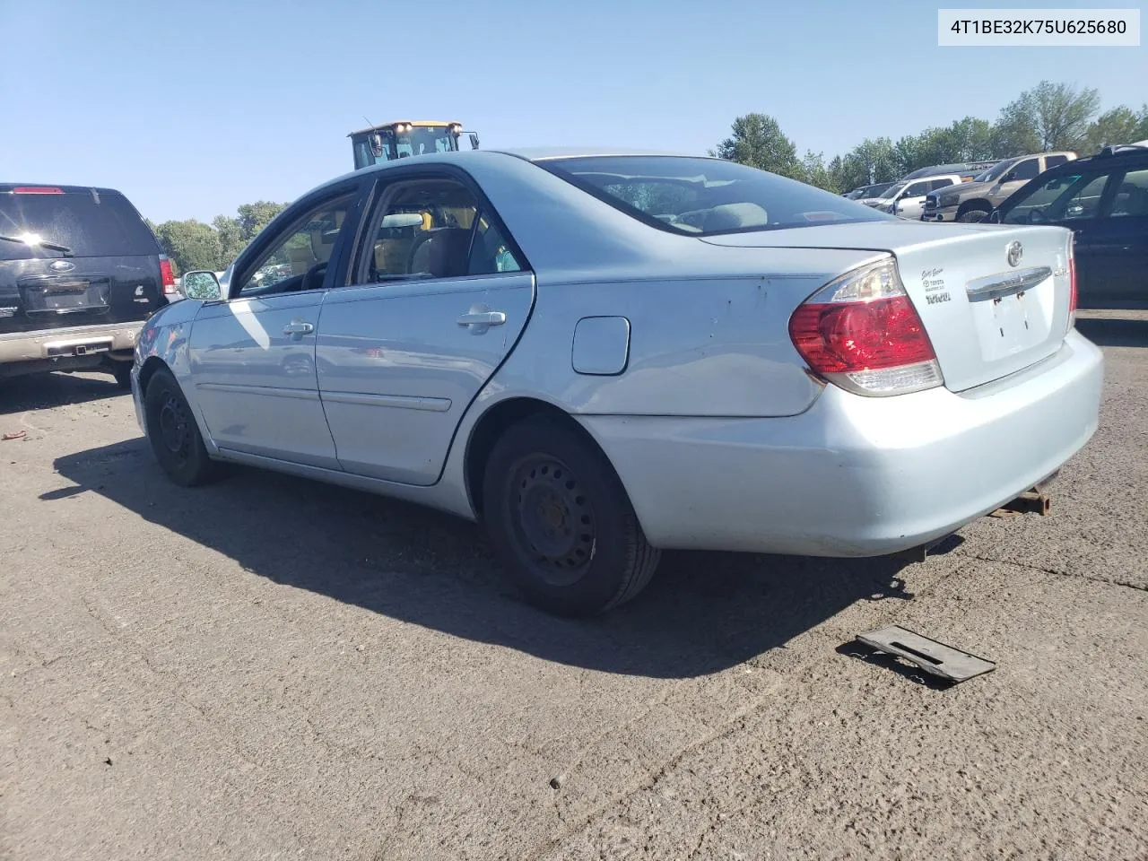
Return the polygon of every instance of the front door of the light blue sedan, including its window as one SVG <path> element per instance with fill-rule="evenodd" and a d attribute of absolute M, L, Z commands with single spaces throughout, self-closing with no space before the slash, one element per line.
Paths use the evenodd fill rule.
<path fill-rule="evenodd" d="M 189 339 L 195 398 L 225 450 L 339 468 L 319 401 L 315 328 L 358 212 L 356 181 L 301 201 L 245 251 Z"/>

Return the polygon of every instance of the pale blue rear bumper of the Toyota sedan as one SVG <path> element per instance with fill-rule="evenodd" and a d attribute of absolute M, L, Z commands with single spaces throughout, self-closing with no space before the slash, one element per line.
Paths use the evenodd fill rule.
<path fill-rule="evenodd" d="M 961 395 L 828 386 L 785 418 L 579 417 L 665 549 L 882 556 L 944 537 L 1056 472 L 1096 429 L 1100 350 L 1077 332 Z"/>

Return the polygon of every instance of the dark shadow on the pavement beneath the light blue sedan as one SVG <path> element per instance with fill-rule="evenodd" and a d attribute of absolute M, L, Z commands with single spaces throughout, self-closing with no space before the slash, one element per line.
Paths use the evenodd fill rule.
<path fill-rule="evenodd" d="M 75 487 L 41 504 L 101 494 L 276 583 L 608 673 L 705 675 L 783 647 L 855 602 L 913 597 L 899 579 L 903 559 L 674 552 L 634 602 L 595 619 L 556 619 L 504 584 L 478 526 L 416 505 L 246 468 L 183 489 L 142 439 L 55 467 Z"/>

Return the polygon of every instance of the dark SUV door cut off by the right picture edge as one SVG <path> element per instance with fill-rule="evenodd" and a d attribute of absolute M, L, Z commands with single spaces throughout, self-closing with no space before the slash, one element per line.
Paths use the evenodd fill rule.
<path fill-rule="evenodd" d="M 1148 304 L 1148 165 L 1112 173 L 1088 246 L 1097 301 Z"/>

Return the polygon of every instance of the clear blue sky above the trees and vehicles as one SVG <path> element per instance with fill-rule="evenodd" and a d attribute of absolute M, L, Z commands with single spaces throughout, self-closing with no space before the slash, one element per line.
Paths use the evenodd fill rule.
<path fill-rule="evenodd" d="M 153 220 L 210 220 L 349 170 L 364 115 L 458 119 L 483 148 L 701 154 L 762 111 L 829 157 L 993 119 L 1042 78 L 1096 87 L 1104 108 L 1148 101 L 1143 46 L 940 48 L 937 9 L 959 6 L 0 0 L 0 179 L 111 186 Z"/>

